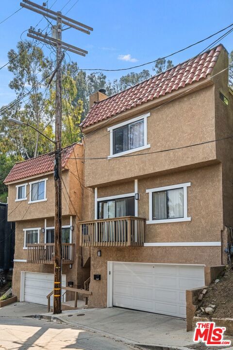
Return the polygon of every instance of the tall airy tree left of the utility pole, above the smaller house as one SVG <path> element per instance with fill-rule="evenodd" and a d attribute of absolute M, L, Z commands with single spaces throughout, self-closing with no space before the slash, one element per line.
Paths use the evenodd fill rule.
<path fill-rule="evenodd" d="M 25 94 L 27 96 L 22 98 L 14 109 L 3 114 L 2 123 L 6 115 L 18 118 L 23 122 L 29 122 L 50 137 L 52 134 L 50 114 L 45 108 L 49 98 L 46 77 L 51 72 L 53 63 L 44 55 L 41 48 L 30 41 L 19 41 L 17 52 L 10 50 L 8 59 L 10 61 L 8 70 L 14 74 L 9 87 L 15 90 L 17 99 L 21 99 Z M 16 152 L 19 150 L 26 158 L 51 150 L 48 141 L 45 142 L 39 133 L 29 131 L 28 128 L 15 128 L 14 140 Z"/>

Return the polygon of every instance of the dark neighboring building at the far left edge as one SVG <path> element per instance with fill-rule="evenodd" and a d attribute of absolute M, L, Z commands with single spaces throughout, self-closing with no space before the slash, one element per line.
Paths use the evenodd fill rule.
<path fill-rule="evenodd" d="M 0 270 L 13 268 L 15 251 L 15 223 L 7 222 L 6 203 L 0 203 Z"/>

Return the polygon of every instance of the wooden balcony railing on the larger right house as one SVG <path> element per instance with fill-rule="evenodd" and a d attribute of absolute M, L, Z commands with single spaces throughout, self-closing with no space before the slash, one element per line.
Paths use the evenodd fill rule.
<path fill-rule="evenodd" d="M 80 223 L 81 246 L 137 246 L 144 244 L 146 219 L 124 216 Z"/>

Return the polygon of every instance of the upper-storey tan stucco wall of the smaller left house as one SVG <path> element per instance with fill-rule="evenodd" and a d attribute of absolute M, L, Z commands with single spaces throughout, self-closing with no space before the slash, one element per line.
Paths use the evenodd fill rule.
<path fill-rule="evenodd" d="M 79 220 L 82 216 L 83 161 L 73 159 L 83 157 L 83 145 L 76 144 L 62 172 L 62 214 L 75 215 Z M 74 174 L 74 175 L 73 175 Z M 80 176 L 80 178 L 79 178 Z M 27 200 L 15 201 L 16 185 L 48 178 L 46 185 L 46 201 L 31 203 L 30 186 L 27 185 Z M 8 185 L 8 221 L 31 220 L 54 216 L 54 177 L 53 174 L 34 176 L 30 179 L 10 183 Z"/>

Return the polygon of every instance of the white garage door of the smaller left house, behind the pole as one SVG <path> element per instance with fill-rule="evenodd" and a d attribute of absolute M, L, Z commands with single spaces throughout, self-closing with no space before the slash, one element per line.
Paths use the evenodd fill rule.
<path fill-rule="evenodd" d="M 20 301 L 47 305 L 47 295 L 53 290 L 53 281 L 53 274 L 21 272 Z M 62 275 L 62 285 L 66 286 L 66 275 Z M 51 305 L 53 305 L 53 297 L 51 297 Z"/>

